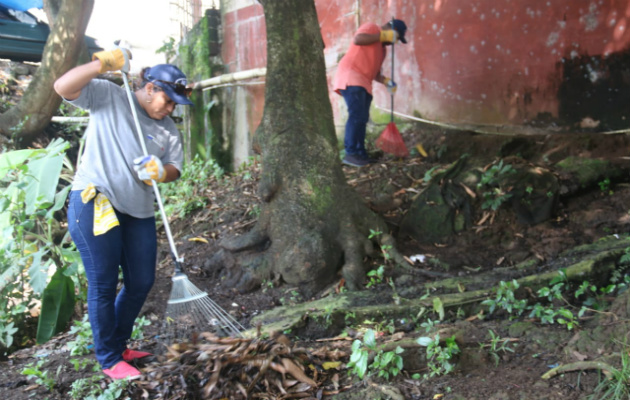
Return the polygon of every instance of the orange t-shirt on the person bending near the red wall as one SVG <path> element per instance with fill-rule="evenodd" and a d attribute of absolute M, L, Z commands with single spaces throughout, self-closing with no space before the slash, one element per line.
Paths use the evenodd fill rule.
<path fill-rule="evenodd" d="M 381 28 L 378 25 L 368 22 L 361 25 L 355 35 L 380 32 Z M 362 86 L 369 94 L 372 94 L 372 81 L 381 70 L 385 54 L 385 47 L 381 42 L 367 46 L 352 43 L 348 52 L 339 61 L 333 90 L 339 93 L 339 90 L 344 90 L 348 86 Z"/>

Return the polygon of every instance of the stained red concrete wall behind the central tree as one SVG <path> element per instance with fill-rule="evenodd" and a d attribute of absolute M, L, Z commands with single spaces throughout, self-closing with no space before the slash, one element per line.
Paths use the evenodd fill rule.
<path fill-rule="evenodd" d="M 599 119 L 603 116 L 587 115 L 597 104 L 630 105 L 618 87 L 630 84 L 624 63 L 630 42 L 630 0 L 315 3 L 329 85 L 361 23 L 382 24 L 392 16 L 406 21 L 408 44 L 395 48 L 399 85 L 395 109 L 403 114 L 455 124 L 519 126 L 536 120 Z M 238 0 L 224 1 L 222 7 L 223 58 L 229 72 L 264 67 L 262 6 L 254 0 Z M 616 60 L 616 66 L 611 67 L 610 60 Z M 385 75 L 391 74 L 390 66 L 388 56 Z M 616 77 L 614 82 L 611 76 Z M 389 95 L 381 85 L 375 86 L 374 104 L 388 109 Z M 264 91 L 242 90 L 251 135 L 262 116 Z M 330 98 L 335 124 L 342 126 L 345 104 L 332 92 Z M 620 104 L 622 100 L 628 104 Z M 623 118 L 616 122 L 623 125 Z"/>

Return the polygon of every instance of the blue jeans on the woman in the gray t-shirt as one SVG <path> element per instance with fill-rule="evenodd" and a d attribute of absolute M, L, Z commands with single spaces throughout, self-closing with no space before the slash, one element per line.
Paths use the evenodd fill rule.
<path fill-rule="evenodd" d="M 116 211 L 119 226 L 94 236 L 94 200 L 83 204 L 70 192 L 68 230 L 81 253 L 88 280 L 88 315 L 96 359 L 103 368 L 122 361 L 133 324 L 155 281 L 155 218 L 135 218 Z M 116 295 L 118 271 L 123 287 Z"/>

